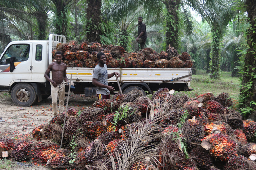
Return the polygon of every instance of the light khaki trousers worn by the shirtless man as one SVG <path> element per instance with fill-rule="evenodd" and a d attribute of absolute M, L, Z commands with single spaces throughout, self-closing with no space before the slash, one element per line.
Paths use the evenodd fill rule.
<path fill-rule="evenodd" d="M 52 84 L 52 109 L 54 112 L 54 116 L 58 116 L 58 109 L 57 109 L 57 98 L 59 95 L 59 113 L 64 111 L 64 101 L 65 101 L 65 83 L 64 81 L 54 87 Z"/>

